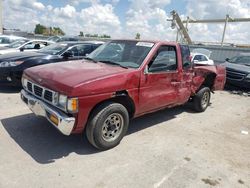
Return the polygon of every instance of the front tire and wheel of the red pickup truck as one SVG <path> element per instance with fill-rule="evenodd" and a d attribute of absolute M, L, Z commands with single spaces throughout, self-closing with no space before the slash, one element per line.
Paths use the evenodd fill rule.
<path fill-rule="evenodd" d="M 92 113 L 86 127 L 86 136 L 97 149 L 111 149 L 120 143 L 128 125 L 127 109 L 119 103 L 107 102 Z"/>

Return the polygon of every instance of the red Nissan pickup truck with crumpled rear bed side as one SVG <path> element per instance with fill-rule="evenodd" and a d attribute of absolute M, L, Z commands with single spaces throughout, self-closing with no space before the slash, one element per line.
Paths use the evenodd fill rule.
<path fill-rule="evenodd" d="M 193 102 L 198 112 L 225 84 L 225 68 L 194 67 L 186 45 L 113 40 L 83 60 L 27 69 L 22 100 L 62 134 L 85 131 L 98 149 L 119 144 L 129 120 Z"/>

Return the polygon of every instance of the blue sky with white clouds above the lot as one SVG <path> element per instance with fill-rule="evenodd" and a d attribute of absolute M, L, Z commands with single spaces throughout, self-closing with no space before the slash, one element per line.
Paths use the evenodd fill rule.
<path fill-rule="evenodd" d="M 250 18 L 250 0 L 3 0 L 3 25 L 33 32 L 40 23 L 67 35 L 107 34 L 112 38 L 174 41 L 170 12 L 182 19 Z M 224 24 L 190 24 L 193 41 L 220 42 Z M 250 44 L 250 22 L 229 23 L 225 42 Z"/>

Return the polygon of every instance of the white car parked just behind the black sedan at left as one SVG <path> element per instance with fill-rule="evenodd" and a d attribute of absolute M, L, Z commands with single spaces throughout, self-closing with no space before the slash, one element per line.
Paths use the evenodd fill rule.
<path fill-rule="evenodd" d="M 23 39 L 23 40 L 13 42 L 5 47 L 0 48 L 0 55 L 11 53 L 11 52 L 37 51 L 53 43 L 54 42 L 47 41 L 47 40 Z"/>

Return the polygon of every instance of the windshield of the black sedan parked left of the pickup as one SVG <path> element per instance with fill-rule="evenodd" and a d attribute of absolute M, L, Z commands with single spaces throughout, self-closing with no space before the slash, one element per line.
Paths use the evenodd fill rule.
<path fill-rule="evenodd" d="M 62 52 L 64 52 L 66 49 L 68 49 L 68 45 L 67 44 L 51 44 L 47 47 L 44 47 L 41 50 L 38 50 L 37 52 L 39 53 L 45 53 L 45 54 L 50 54 L 50 55 L 59 55 Z"/>

